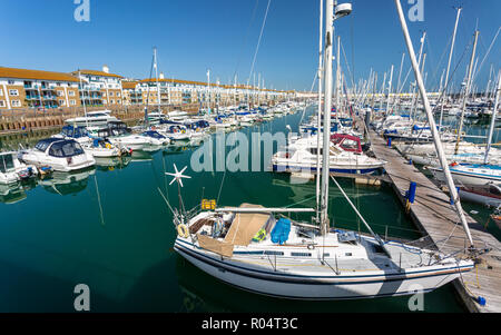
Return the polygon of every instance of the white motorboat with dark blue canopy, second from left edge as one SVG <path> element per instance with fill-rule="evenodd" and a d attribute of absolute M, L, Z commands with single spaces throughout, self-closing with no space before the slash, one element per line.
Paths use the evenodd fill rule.
<path fill-rule="evenodd" d="M 19 157 L 27 164 L 37 167 L 50 166 L 56 171 L 76 171 L 96 164 L 92 155 L 73 139 L 46 138 L 40 140 L 35 148 L 24 149 Z"/>

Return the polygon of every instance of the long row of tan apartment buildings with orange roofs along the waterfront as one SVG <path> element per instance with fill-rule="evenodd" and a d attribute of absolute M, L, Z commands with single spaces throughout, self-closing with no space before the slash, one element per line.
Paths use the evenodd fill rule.
<path fill-rule="evenodd" d="M 258 89 L 246 85 L 149 78 L 125 79 L 102 70 L 71 73 L 0 67 L 0 109 L 105 106 L 180 106 L 218 104 L 222 106 L 278 100 L 294 91 Z"/>

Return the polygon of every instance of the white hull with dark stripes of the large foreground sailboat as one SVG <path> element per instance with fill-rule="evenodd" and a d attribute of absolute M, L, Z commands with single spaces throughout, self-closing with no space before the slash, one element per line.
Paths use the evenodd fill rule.
<path fill-rule="evenodd" d="M 187 247 L 184 243 L 176 243 L 174 249 L 189 263 L 205 273 L 240 289 L 256 294 L 291 299 L 356 299 L 385 296 L 412 295 L 416 290 L 431 292 L 460 276 L 458 267 L 430 267 L 407 270 L 401 274 L 385 274 L 383 270 L 374 275 L 341 275 L 312 278 L 293 275 L 286 270 L 264 270 L 247 267 L 246 264 L 222 260 L 217 256 Z M 273 262 L 273 260 L 272 260 Z M 470 270 L 464 266 L 461 270 Z"/>

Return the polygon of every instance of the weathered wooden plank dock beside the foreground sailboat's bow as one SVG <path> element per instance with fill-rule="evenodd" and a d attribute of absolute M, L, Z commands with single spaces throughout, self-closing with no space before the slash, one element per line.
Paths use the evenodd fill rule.
<path fill-rule="evenodd" d="M 428 235 L 434 246 L 449 254 L 466 245 L 466 236 L 459 223 L 459 217 L 450 205 L 450 198 L 439 189 L 426 176 L 419 171 L 386 141 L 373 130 L 370 131 L 372 149 L 377 158 L 387 161 L 386 174 L 400 200 L 405 206 L 405 191 L 410 183 L 418 184 L 415 201 L 410 207 L 410 216 L 414 224 Z M 454 286 L 470 312 L 501 312 L 501 243 L 489 234 L 482 225 L 468 216 L 472 238 L 477 248 L 489 248 L 490 253 L 482 255 L 475 269 L 454 280 Z M 485 298 L 481 306 L 475 299 Z"/>

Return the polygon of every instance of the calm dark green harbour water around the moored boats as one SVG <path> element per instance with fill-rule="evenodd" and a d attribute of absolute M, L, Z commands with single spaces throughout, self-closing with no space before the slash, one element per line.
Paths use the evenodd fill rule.
<path fill-rule="evenodd" d="M 301 114 L 242 131 L 297 130 Z M 1 146 L 0 146 L 1 147 Z M 226 148 L 229 151 L 232 148 Z M 177 187 L 165 171 L 189 166 L 193 148 L 135 155 L 124 165 L 21 189 L 0 189 L 0 312 L 72 312 L 73 288 L 90 287 L 94 312 L 407 312 L 407 298 L 291 302 L 237 290 L 204 274 L 173 252 L 176 231 L 158 188 L 177 206 Z M 271 173 L 194 173 L 183 196 L 224 206 L 314 206 L 315 184 L 291 185 Z M 373 228 L 416 238 L 390 187 L 342 186 Z M 223 186 L 222 186 L 223 185 Z M 334 186 L 331 210 L 337 227 L 360 223 Z M 424 297 L 426 312 L 464 312 L 449 285 Z"/>

